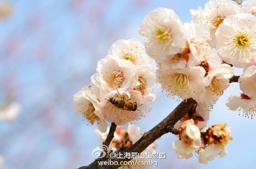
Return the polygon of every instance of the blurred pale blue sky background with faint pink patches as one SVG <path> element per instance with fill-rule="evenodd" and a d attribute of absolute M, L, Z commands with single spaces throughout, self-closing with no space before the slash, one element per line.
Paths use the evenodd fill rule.
<path fill-rule="evenodd" d="M 87 125 L 72 111 L 73 94 L 90 84 L 98 60 L 118 39 L 139 38 L 138 26 L 157 7 L 173 9 L 190 22 L 190 9 L 207 0 L 0 0 L 0 102 L 12 96 L 21 105 L 13 121 L 0 121 L 3 169 L 74 169 L 88 165 L 99 146 L 96 125 Z M 3 6 L 5 4 L 5 6 Z M 6 5 L 7 4 L 7 5 Z M 153 63 L 154 66 L 154 63 Z M 155 66 L 154 66 L 155 67 Z M 242 74 L 242 70 L 236 70 Z M 231 84 L 214 105 L 208 125 L 227 122 L 233 127 L 229 155 L 208 165 L 197 157 L 177 159 L 172 134 L 157 140 L 159 169 L 255 168 L 255 120 L 238 116 L 225 106 Z M 178 105 L 155 89 L 152 111 L 135 124 L 148 131 Z"/>

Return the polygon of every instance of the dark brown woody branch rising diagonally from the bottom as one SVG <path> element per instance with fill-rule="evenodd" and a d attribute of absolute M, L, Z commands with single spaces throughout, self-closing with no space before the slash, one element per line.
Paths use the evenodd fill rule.
<path fill-rule="evenodd" d="M 238 82 L 240 76 L 233 76 L 229 79 L 231 82 Z M 196 104 L 196 101 L 192 98 L 187 99 L 187 101 L 183 100 L 165 119 L 163 119 L 159 124 L 154 126 L 150 131 L 145 132 L 144 135 L 135 142 L 131 147 L 126 149 L 125 151 L 121 152 L 121 154 L 124 153 L 132 153 L 137 152 L 140 153 L 144 151 L 151 143 L 153 143 L 156 139 L 160 138 L 162 135 L 171 132 L 173 134 L 177 134 L 177 131 L 173 128 L 173 126 L 188 112 L 194 107 Z M 106 141 L 103 142 L 104 145 L 108 143 L 107 146 L 109 146 L 109 143 L 114 138 L 114 132 L 115 132 L 116 125 L 113 123 L 111 124 L 111 128 L 109 130 L 109 134 L 106 138 Z M 106 160 L 107 158 L 101 159 Z M 122 158 L 114 158 L 112 159 L 113 162 L 117 161 L 118 163 L 121 161 L 129 161 L 131 159 L 122 159 Z M 117 169 L 119 166 L 99 166 L 98 160 L 95 160 L 95 162 L 91 163 L 88 166 L 83 166 L 79 169 Z"/>

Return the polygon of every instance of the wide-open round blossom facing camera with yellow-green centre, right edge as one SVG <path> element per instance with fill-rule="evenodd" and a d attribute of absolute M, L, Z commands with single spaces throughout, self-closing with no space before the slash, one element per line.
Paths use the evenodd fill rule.
<path fill-rule="evenodd" d="M 220 58 L 235 67 L 243 68 L 256 55 L 256 16 L 228 16 L 216 31 L 216 50 Z"/>

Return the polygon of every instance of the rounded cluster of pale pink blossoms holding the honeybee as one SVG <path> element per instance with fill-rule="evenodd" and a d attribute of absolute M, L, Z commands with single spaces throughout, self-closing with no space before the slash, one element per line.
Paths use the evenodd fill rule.
<path fill-rule="evenodd" d="M 154 101 L 155 70 L 138 39 L 118 40 L 99 60 L 91 85 L 74 95 L 73 111 L 83 114 L 89 123 L 106 132 L 107 123 L 125 125 L 150 111 Z"/>

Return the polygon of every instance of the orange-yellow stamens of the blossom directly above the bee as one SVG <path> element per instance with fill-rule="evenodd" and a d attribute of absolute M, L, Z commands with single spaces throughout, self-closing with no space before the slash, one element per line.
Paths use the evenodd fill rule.
<path fill-rule="evenodd" d="M 125 80 L 123 73 L 116 70 L 108 74 L 106 77 L 103 77 L 103 79 L 108 83 L 109 87 L 111 88 L 119 87 Z"/>

